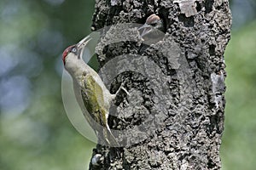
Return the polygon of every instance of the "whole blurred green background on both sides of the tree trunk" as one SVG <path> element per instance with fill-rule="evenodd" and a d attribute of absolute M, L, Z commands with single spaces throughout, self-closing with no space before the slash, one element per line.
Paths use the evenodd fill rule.
<path fill-rule="evenodd" d="M 233 0 L 225 52 L 223 169 L 256 167 L 256 3 Z M 88 167 L 94 143 L 68 121 L 61 53 L 90 33 L 93 0 L 0 1 L 0 169 Z"/>

